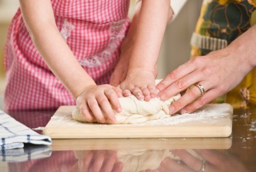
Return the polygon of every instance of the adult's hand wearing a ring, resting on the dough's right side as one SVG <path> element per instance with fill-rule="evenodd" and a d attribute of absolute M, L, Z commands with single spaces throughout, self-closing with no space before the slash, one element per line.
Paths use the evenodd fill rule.
<path fill-rule="evenodd" d="M 195 57 L 170 72 L 156 86 L 160 91 L 158 96 L 167 100 L 192 85 L 200 84 L 205 94 L 201 95 L 200 89 L 193 87 L 169 108 L 170 114 L 181 108 L 181 113 L 191 113 L 236 87 L 251 69 L 243 61 L 240 54 L 234 54 L 228 48 Z"/>

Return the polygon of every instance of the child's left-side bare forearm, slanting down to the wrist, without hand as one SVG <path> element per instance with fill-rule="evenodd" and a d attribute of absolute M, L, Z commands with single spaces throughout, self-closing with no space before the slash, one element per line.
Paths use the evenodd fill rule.
<path fill-rule="evenodd" d="M 34 10 L 35 6 L 42 8 Z M 60 35 L 50 1 L 20 0 L 23 19 L 32 41 L 53 74 L 76 98 L 87 85 L 95 84 L 80 66 Z"/>

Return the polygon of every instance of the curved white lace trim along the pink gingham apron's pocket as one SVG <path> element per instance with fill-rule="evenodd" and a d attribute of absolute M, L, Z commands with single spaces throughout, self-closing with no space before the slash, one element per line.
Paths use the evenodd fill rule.
<path fill-rule="evenodd" d="M 114 51 L 117 50 L 119 46 L 118 42 L 125 37 L 125 32 L 121 32 L 125 22 L 126 19 L 113 22 L 110 25 L 110 39 L 108 46 L 106 46 L 106 48 L 99 54 L 79 60 L 80 65 L 93 68 L 102 66 L 104 62 L 108 61 L 112 57 Z"/>

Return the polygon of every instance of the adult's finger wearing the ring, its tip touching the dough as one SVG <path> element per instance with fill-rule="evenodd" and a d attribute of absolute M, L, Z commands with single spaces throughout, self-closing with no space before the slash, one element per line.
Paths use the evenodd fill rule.
<path fill-rule="evenodd" d="M 209 89 L 209 85 L 207 85 L 207 83 L 202 83 L 202 84 L 205 85 L 205 87 L 204 87 L 205 90 Z M 174 104 L 172 104 L 169 107 L 169 113 L 170 114 L 176 113 L 181 108 L 183 108 L 184 106 L 187 106 L 191 102 L 195 101 L 200 96 L 201 96 L 201 91 L 199 88 L 193 87 L 193 88 L 189 89 L 183 96 L 180 97 L 179 100 L 174 102 Z"/>

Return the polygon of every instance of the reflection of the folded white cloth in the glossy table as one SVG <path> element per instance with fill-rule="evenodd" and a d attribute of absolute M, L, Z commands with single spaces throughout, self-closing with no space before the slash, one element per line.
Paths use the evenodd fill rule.
<path fill-rule="evenodd" d="M 50 157 L 52 149 L 47 145 L 26 145 L 24 148 L 2 150 L 0 161 L 25 162 Z"/>

